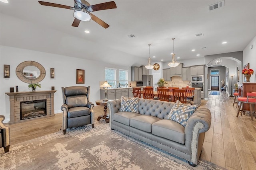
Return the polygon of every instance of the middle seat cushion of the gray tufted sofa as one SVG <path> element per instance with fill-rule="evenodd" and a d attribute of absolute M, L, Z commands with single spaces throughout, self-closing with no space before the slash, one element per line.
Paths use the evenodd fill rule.
<path fill-rule="evenodd" d="M 159 121 L 159 120 L 161 119 L 154 116 L 140 115 L 140 116 L 132 117 L 130 119 L 130 126 L 140 129 L 142 131 L 151 133 L 152 123 L 155 123 L 156 121 Z"/>

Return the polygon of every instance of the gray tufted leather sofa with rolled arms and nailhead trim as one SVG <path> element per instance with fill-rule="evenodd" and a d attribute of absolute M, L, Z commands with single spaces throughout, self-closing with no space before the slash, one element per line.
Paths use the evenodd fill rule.
<path fill-rule="evenodd" d="M 188 119 L 186 126 L 167 119 L 174 102 L 140 98 L 139 113 L 120 112 L 121 99 L 111 100 L 110 127 L 144 141 L 154 147 L 198 164 L 204 143 L 204 134 L 211 124 L 211 113 L 206 107 L 198 107 Z"/>

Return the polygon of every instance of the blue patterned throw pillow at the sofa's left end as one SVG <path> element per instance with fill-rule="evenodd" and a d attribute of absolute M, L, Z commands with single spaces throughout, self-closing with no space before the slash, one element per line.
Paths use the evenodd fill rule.
<path fill-rule="evenodd" d="M 134 113 L 139 113 L 139 98 L 126 98 L 121 97 L 121 108 L 120 111 L 130 111 Z"/>

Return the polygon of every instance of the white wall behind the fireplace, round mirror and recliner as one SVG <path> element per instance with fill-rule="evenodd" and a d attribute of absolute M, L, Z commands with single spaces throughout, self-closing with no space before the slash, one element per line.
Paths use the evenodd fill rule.
<path fill-rule="evenodd" d="M 27 49 L 18 49 L 14 47 L 1 46 L 0 51 L 0 75 L 3 75 L 2 66 L 10 65 L 10 78 L 0 76 L 0 114 L 5 116 L 5 123 L 10 120 L 10 102 L 6 92 L 10 92 L 10 87 L 18 86 L 19 92 L 31 91 L 28 84 L 22 82 L 16 76 L 16 67 L 24 61 L 36 61 L 46 70 L 44 80 L 40 82 L 41 88 L 36 90 L 51 90 L 51 86 L 55 86 L 57 92 L 54 94 L 54 111 L 61 112 L 62 93 L 61 87 L 67 86 L 91 86 L 90 101 L 95 103 L 100 99 L 100 81 L 105 79 L 105 67 L 128 70 L 128 80 L 130 80 L 130 66 L 120 66 L 110 63 L 101 63 L 86 59 L 78 59 L 67 57 L 64 55 L 56 55 L 51 53 L 43 53 Z M 142 65 L 139 63 L 138 65 Z M 55 78 L 50 78 L 50 68 L 54 68 Z M 85 84 L 76 84 L 76 69 L 85 70 Z M 118 72 L 118 70 L 117 70 Z M 14 88 L 15 89 L 15 88 Z"/>

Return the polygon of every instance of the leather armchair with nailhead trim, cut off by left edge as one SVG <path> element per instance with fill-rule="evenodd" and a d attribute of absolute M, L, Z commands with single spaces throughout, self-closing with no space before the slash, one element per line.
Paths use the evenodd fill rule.
<path fill-rule="evenodd" d="M 0 115 L 0 148 L 4 147 L 4 152 L 9 152 L 10 148 L 10 128 L 3 123 L 4 115 Z"/>

